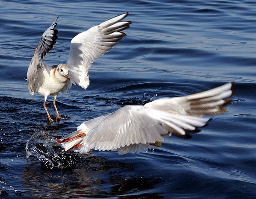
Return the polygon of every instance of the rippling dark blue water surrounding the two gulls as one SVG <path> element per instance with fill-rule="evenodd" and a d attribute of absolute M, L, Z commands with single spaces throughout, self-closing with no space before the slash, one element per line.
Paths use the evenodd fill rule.
<path fill-rule="evenodd" d="M 127 37 L 95 61 L 86 91 L 73 86 L 59 94 L 59 112 L 68 118 L 49 124 L 43 97 L 30 95 L 24 80 L 44 30 L 59 16 L 59 39 L 44 60 L 64 63 L 77 33 L 124 12 L 132 21 Z M 255 198 L 255 13 L 256 3 L 246 0 L 1 0 L 0 196 Z M 35 133 L 44 143 L 123 105 L 226 82 L 236 82 L 237 90 L 229 111 L 191 140 L 169 137 L 140 154 L 71 152 L 65 155 L 74 165 L 65 169 L 26 158 Z"/>

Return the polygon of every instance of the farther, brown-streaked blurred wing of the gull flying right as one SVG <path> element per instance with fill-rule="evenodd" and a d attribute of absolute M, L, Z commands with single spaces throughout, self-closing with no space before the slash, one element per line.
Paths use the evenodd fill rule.
<path fill-rule="evenodd" d="M 233 85 L 235 83 L 227 83 L 217 88 L 188 96 L 156 99 L 145 104 L 145 106 L 191 116 L 221 114 L 227 111 L 224 106 L 232 102 L 232 100 L 226 98 L 234 93 L 232 90 Z"/>

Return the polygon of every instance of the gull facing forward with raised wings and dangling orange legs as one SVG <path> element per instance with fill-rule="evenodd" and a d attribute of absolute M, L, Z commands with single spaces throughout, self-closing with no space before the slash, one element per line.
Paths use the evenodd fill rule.
<path fill-rule="evenodd" d="M 86 89 L 89 85 L 89 67 L 98 57 L 110 50 L 118 40 L 126 36 L 121 32 L 129 28 L 130 21 L 123 20 L 128 13 L 118 15 L 81 32 L 71 40 L 66 64 L 48 66 L 43 58 L 56 44 L 58 30 L 56 21 L 44 32 L 35 47 L 34 55 L 27 70 L 27 85 L 30 94 L 44 96 L 44 109 L 49 121 L 53 121 L 46 108 L 46 99 L 53 95 L 56 120 L 61 118 L 56 107 L 56 97 L 60 91 L 66 92 L 72 84 Z M 58 19 L 58 18 L 57 18 Z M 56 20 L 57 20 L 56 19 Z"/>

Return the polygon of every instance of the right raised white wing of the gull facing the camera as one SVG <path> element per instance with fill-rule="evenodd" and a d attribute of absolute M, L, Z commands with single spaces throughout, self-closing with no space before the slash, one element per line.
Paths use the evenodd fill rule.
<path fill-rule="evenodd" d="M 79 33 L 71 40 L 67 65 L 72 84 L 86 89 L 89 85 L 89 67 L 98 57 L 110 50 L 126 36 L 121 32 L 129 28 L 129 21 L 121 21 L 128 13 L 118 15 Z"/>

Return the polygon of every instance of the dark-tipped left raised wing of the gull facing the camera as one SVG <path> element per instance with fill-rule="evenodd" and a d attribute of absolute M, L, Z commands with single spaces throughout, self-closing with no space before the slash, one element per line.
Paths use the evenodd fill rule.
<path fill-rule="evenodd" d="M 56 44 L 56 39 L 58 38 L 58 30 L 55 29 L 57 25 L 56 21 L 51 24 L 50 27 L 41 36 L 41 39 L 36 45 L 34 54 L 30 61 L 26 76 L 27 85 L 31 94 L 34 94 L 35 91 L 37 91 L 38 89 L 37 82 L 40 81 L 42 77 L 42 70 L 44 70 L 45 68 L 43 58 L 44 56 L 46 56 L 47 53 L 50 52 L 51 49 L 53 49 L 54 44 Z"/>

